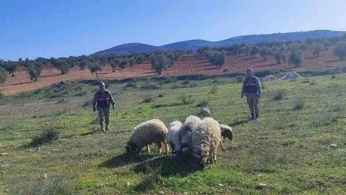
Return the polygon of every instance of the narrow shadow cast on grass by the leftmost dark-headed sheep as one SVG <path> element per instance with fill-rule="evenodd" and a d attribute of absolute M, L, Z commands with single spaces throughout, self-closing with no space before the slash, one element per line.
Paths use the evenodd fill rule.
<path fill-rule="evenodd" d="M 127 153 L 120 154 L 111 159 L 103 161 L 98 167 L 106 168 L 118 168 L 128 165 L 129 163 L 143 162 L 145 160 L 151 159 L 154 154 L 142 154 L 141 156 L 130 156 Z"/>

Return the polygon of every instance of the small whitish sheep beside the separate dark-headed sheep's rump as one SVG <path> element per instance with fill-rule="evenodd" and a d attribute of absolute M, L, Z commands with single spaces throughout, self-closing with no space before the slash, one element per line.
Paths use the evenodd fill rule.
<path fill-rule="evenodd" d="M 180 151 L 180 130 L 182 123 L 173 121 L 168 127 L 167 142 L 171 146 L 172 152 Z"/>

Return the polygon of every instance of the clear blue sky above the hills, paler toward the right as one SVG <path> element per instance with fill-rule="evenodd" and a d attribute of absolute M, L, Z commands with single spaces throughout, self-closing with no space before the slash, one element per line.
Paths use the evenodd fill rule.
<path fill-rule="evenodd" d="M 126 43 L 346 31 L 345 0 L 0 0 L 0 59 L 88 55 Z"/>

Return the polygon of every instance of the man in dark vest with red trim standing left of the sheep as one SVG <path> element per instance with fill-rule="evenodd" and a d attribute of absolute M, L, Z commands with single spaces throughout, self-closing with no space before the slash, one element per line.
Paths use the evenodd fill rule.
<path fill-rule="evenodd" d="M 103 116 L 104 121 L 106 123 L 106 131 L 109 130 L 109 110 L 110 110 L 110 103 L 112 104 L 113 109 L 114 107 L 114 100 L 112 95 L 108 90 L 105 89 L 104 82 L 100 82 L 99 84 L 100 89 L 95 93 L 94 98 L 92 100 L 92 110 L 93 112 L 98 110 L 99 113 L 99 124 L 101 126 L 102 131 L 105 131 L 103 126 Z M 97 103 L 97 107 L 96 107 Z"/>

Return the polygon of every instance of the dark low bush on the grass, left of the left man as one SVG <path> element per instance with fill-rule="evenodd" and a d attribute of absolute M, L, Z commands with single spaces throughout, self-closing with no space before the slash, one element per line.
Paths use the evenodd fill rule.
<path fill-rule="evenodd" d="M 51 142 L 53 140 L 57 140 L 60 134 L 60 130 L 54 128 L 53 126 L 44 128 L 32 139 L 32 143 L 34 145 L 40 145 L 44 143 Z"/>

